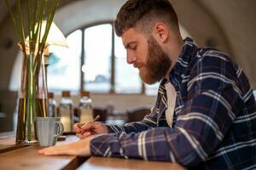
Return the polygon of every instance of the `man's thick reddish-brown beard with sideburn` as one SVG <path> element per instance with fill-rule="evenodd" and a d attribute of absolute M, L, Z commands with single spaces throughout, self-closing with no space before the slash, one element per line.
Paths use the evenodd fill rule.
<path fill-rule="evenodd" d="M 154 37 L 148 38 L 148 55 L 145 68 L 141 68 L 140 77 L 143 82 L 153 84 L 160 82 L 166 76 L 167 71 L 172 65 L 172 60 L 163 51 L 160 45 L 154 40 Z M 143 71 L 143 69 L 145 69 Z"/>

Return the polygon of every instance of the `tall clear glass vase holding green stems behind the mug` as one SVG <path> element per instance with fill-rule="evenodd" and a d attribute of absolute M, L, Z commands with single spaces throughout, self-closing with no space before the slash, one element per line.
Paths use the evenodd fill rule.
<path fill-rule="evenodd" d="M 37 142 L 35 117 L 47 116 L 48 95 L 42 42 L 19 42 L 23 54 L 16 144 Z"/>

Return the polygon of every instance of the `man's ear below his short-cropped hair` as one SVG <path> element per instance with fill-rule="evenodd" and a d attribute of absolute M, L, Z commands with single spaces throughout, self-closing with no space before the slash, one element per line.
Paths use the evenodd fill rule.
<path fill-rule="evenodd" d="M 169 29 L 166 24 L 158 22 L 154 25 L 153 36 L 159 42 L 166 42 L 169 36 Z"/>

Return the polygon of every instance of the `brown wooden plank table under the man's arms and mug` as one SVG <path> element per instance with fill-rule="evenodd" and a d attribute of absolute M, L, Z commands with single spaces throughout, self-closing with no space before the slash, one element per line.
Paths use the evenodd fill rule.
<path fill-rule="evenodd" d="M 76 140 L 73 135 L 57 144 Z M 14 137 L 0 137 L 0 169 L 183 169 L 176 163 L 143 160 L 125 160 L 107 157 L 39 156 L 38 144 L 15 144 Z"/>

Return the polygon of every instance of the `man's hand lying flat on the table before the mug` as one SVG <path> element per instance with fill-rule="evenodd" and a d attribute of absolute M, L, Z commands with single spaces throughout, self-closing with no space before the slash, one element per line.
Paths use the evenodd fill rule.
<path fill-rule="evenodd" d="M 39 155 L 44 156 L 90 156 L 90 140 L 93 136 L 73 142 L 70 144 L 60 144 L 38 150 Z"/>

